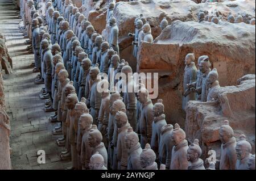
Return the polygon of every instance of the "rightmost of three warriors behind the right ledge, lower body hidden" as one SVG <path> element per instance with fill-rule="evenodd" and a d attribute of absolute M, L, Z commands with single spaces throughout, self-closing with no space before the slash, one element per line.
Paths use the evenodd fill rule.
<path fill-rule="evenodd" d="M 207 75 L 207 83 L 209 87 L 207 102 L 218 101 L 218 89 L 220 88 L 220 84 L 218 83 L 218 71 L 216 68 L 212 69 Z"/>

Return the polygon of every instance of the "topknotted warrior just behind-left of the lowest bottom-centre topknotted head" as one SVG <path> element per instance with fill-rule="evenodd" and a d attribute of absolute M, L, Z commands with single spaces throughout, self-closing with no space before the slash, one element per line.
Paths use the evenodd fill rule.
<path fill-rule="evenodd" d="M 127 170 L 141 170 L 141 153 L 142 148 L 139 143 L 138 134 L 129 127 L 125 135 L 125 145 L 128 153 Z"/>

